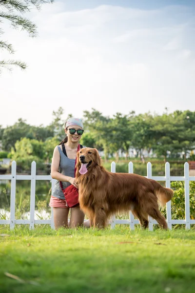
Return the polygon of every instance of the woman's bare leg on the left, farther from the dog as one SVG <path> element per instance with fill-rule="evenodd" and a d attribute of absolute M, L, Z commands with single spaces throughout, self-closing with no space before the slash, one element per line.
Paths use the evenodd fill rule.
<path fill-rule="evenodd" d="M 53 208 L 54 212 L 54 226 L 55 229 L 59 227 L 68 227 L 68 213 L 69 209 L 65 208 Z"/>

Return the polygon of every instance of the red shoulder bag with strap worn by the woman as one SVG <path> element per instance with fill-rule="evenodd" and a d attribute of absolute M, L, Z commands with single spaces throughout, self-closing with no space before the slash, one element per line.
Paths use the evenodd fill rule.
<path fill-rule="evenodd" d="M 80 145 L 78 145 L 77 151 L 80 149 Z M 77 164 L 77 158 L 75 160 L 75 166 Z M 75 173 L 76 173 L 76 168 L 75 168 Z M 70 185 L 66 188 L 63 189 L 61 181 L 59 181 L 61 190 L 65 196 L 66 203 L 69 208 L 75 208 L 79 206 L 78 202 L 78 189 L 74 187 L 74 185 Z"/>

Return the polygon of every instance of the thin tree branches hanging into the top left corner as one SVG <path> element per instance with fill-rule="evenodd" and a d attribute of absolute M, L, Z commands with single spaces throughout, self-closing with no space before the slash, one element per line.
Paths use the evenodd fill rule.
<path fill-rule="evenodd" d="M 29 12 L 33 6 L 40 10 L 42 4 L 52 2 L 54 0 L 0 0 L 0 23 L 10 21 L 14 29 L 25 30 L 30 37 L 36 37 L 36 24 L 23 15 Z M 0 36 L 3 33 L 4 31 L 0 28 Z M 0 40 L 0 49 L 7 50 L 10 54 L 15 53 L 12 44 L 7 41 Z M 1 60 L 0 73 L 3 67 L 12 70 L 13 65 L 19 66 L 21 69 L 27 67 L 27 64 L 20 60 Z"/>

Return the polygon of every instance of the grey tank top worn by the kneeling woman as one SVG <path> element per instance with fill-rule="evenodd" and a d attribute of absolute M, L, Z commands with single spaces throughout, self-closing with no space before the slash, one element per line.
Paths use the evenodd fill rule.
<path fill-rule="evenodd" d="M 86 147 L 86 146 L 83 146 Z M 59 155 L 60 155 L 60 162 L 59 162 L 59 173 L 69 176 L 69 177 L 75 177 L 75 159 L 69 159 L 66 157 L 61 150 L 60 146 L 58 146 Z M 63 189 L 70 186 L 70 182 L 62 182 Z M 59 199 L 65 199 L 64 194 L 61 190 L 59 180 L 56 180 L 56 183 L 54 185 L 52 195 L 54 197 L 57 197 Z"/>

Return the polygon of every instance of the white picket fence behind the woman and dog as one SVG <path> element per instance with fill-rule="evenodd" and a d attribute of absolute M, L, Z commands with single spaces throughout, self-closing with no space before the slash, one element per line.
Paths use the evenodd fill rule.
<path fill-rule="evenodd" d="M 116 163 L 112 162 L 111 172 L 116 172 Z M 133 163 L 129 163 L 129 173 L 133 173 Z M 165 176 L 152 176 L 152 164 L 147 164 L 147 178 L 154 179 L 156 181 L 165 181 L 166 187 L 171 187 L 171 181 L 185 181 L 185 219 L 172 220 L 171 216 L 171 201 L 167 203 L 167 223 L 168 228 L 171 230 L 172 225 L 185 224 L 186 229 L 190 229 L 191 224 L 195 224 L 195 220 L 190 219 L 190 181 L 195 181 L 195 176 L 189 176 L 189 164 L 184 164 L 184 176 L 170 176 L 170 164 L 165 164 Z M 11 175 L 0 175 L 0 180 L 11 180 L 11 202 L 10 202 L 10 219 L 0 220 L 0 224 L 10 225 L 10 229 L 14 229 L 15 224 L 28 224 L 30 229 L 34 229 L 35 224 L 49 224 L 54 229 L 53 210 L 51 211 L 51 218 L 48 220 L 36 220 L 35 219 L 35 194 L 36 194 L 36 181 L 37 180 L 49 180 L 53 186 L 55 179 L 52 179 L 50 175 L 36 175 L 36 162 L 32 162 L 31 175 L 17 175 L 16 174 L 16 162 L 12 162 Z M 30 193 L 30 219 L 16 220 L 15 219 L 15 202 L 16 202 L 16 181 L 17 180 L 30 180 L 31 181 L 31 193 Z M 138 220 L 134 219 L 132 212 L 129 213 L 129 219 L 118 220 L 112 217 L 111 229 L 114 229 L 116 224 L 129 224 L 131 230 L 135 229 L 135 224 L 139 224 Z M 156 220 L 149 217 L 149 230 L 153 230 L 153 225 L 157 224 Z"/>

